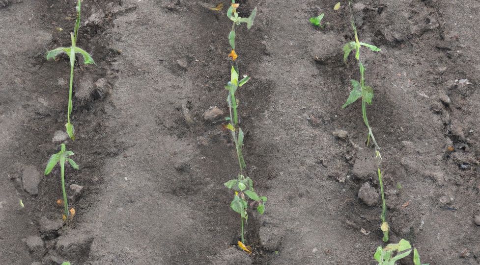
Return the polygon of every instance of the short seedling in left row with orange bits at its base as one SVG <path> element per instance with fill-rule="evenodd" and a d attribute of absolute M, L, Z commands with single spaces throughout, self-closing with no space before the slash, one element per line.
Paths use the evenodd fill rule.
<path fill-rule="evenodd" d="M 78 170 L 78 165 L 73 161 L 69 156 L 74 155 L 72 151 L 68 151 L 65 148 L 65 144 L 61 144 L 60 151 L 56 154 L 53 154 L 50 159 L 48 160 L 47 167 L 45 168 L 45 175 L 50 174 L 52 169 L 56 166 L 56 164 L 60 164 L 60 173 L 61 173 L 61 181 L 62 181 L 62 193 L 63 193 L 63 220 L 66 220 L 67 217 L 73 217 L 75 215 L 75 209 L 68 209 L 68 201 L 67 201 L 67 193 L 65 191 L 65 161 L 67 161 L 72 168 Z"/>

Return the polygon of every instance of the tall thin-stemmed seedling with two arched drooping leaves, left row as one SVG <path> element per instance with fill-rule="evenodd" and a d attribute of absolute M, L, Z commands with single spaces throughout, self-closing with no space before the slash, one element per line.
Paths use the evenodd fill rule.
<path fill-rule="evenodd" d="M 92 57 L 85 50 L 78 48 L 76 46 L 78 39 L 78 29 L 80 28 L 80 14 L 81 14 L 82 1 L 78 0 L 77 2 L 77 20 L 75 22 L 74 31 L 70 33 L 70 38 L 72 42 L 71 47 L 60 47 L 53 49 L 47 53 L 47 60 L 55 60 L 56 57 L 62 53 L 65 53 L 70 58 L 70 87 L 68 92 L 68 114 L 67 114 L 67 123 L 65 124 L 68 136 L 70 139 L 75 139 L 75 129 L 73 124 L 70 122 L 70 114 L 72 113 L 73 103 L 72 103 L 72 91 L 73 91 L 73 69 L 75 66 L 75 55 L 80 53 L 84 57 L 84 64 L 95 64 Z"/>

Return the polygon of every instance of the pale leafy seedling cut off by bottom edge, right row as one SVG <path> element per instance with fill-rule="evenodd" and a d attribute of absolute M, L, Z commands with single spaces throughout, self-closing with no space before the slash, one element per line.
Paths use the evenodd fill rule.
<path fill-rule="evenodd" d="M 398 243 L 388 244 L 385 248 L 379 246 L 375 251 L 373 258 L 378 262 L 378 265 L 395 265 L 398 260 L 407 257 L 411 252 L 412 246 L 410 245 L 410 242 L 401 239 Z M 416 248 L 414 249 L 413 263 L 415 265 L 422 265 Z"/>

